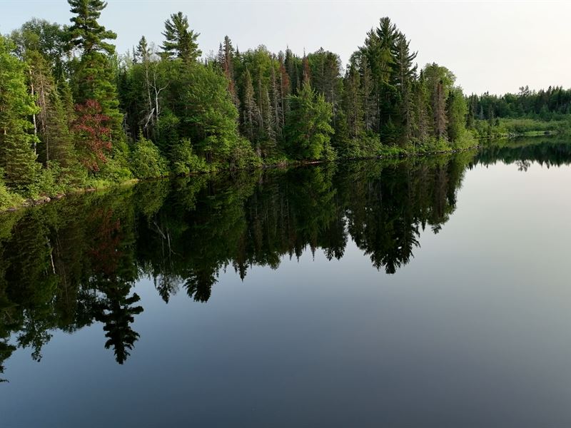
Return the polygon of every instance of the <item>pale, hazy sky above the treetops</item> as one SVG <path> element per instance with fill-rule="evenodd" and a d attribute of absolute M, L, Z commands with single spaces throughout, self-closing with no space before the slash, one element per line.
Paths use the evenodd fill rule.
<path fill-rule="evenodd" d="M 164 21 L 182 11 L 204 54 L 225 35 L 240 51 L 261 44 L 296 54 L 320 47 L 345 65 L 365 35 L 389 16 L 418 51 L 420 67 L 450 68 L 465 93 L 571 87 L 571 1 L 191 1 L 108 0 L 100 22 L 124 53 L 142 35 L 160 45 Z M 65 0 L 0 0 L 0 33 L 32 17 L 69 23 Z"/>

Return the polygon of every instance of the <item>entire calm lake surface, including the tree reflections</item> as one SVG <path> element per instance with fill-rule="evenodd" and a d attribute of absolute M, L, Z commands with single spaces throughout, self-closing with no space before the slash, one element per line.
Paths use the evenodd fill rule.
<path fill-rule="evenodd" d="M 0 216 L 0 427 L 570 427 L 571 144 Z"/>

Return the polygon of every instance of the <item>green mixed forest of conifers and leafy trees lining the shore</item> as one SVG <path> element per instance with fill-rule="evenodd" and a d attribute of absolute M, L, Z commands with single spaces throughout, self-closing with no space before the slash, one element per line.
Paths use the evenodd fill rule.
<path fill-rule="evenodd" d="M 101 0 L 68 0 L 70 24 L 32 19 L 0 35 L 0 211 L 121 183 L 221 170 L 465 150 L 567 133 L 571 90 L 465 96 L 422 69 L 381 18 L 343 66 L 319 49 L 206 57 L 181 12 L 160 46 L 117 54 Z"/>

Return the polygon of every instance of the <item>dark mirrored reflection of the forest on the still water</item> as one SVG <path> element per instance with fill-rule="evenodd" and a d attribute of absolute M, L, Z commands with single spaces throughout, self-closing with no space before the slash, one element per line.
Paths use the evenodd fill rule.
<path fill-rule="evenodd" d="M 509 153 L 158 180 L 1 215 L 0 377 L 17 348 L 41 360 L 52 332 L 94 322 L 125 362 L 144 277 L 166 303 L 176 292 L 206 302 L 223 269 L 244 279 L 253 265 L 276 269 L 307 250 L 340 259 L 349 239 L 393 274 L 421 230 L 438 233 L 448 221 L 465 170 Z M 568 149 L 552 155 L 552 164 L 571 160 Z"/>

